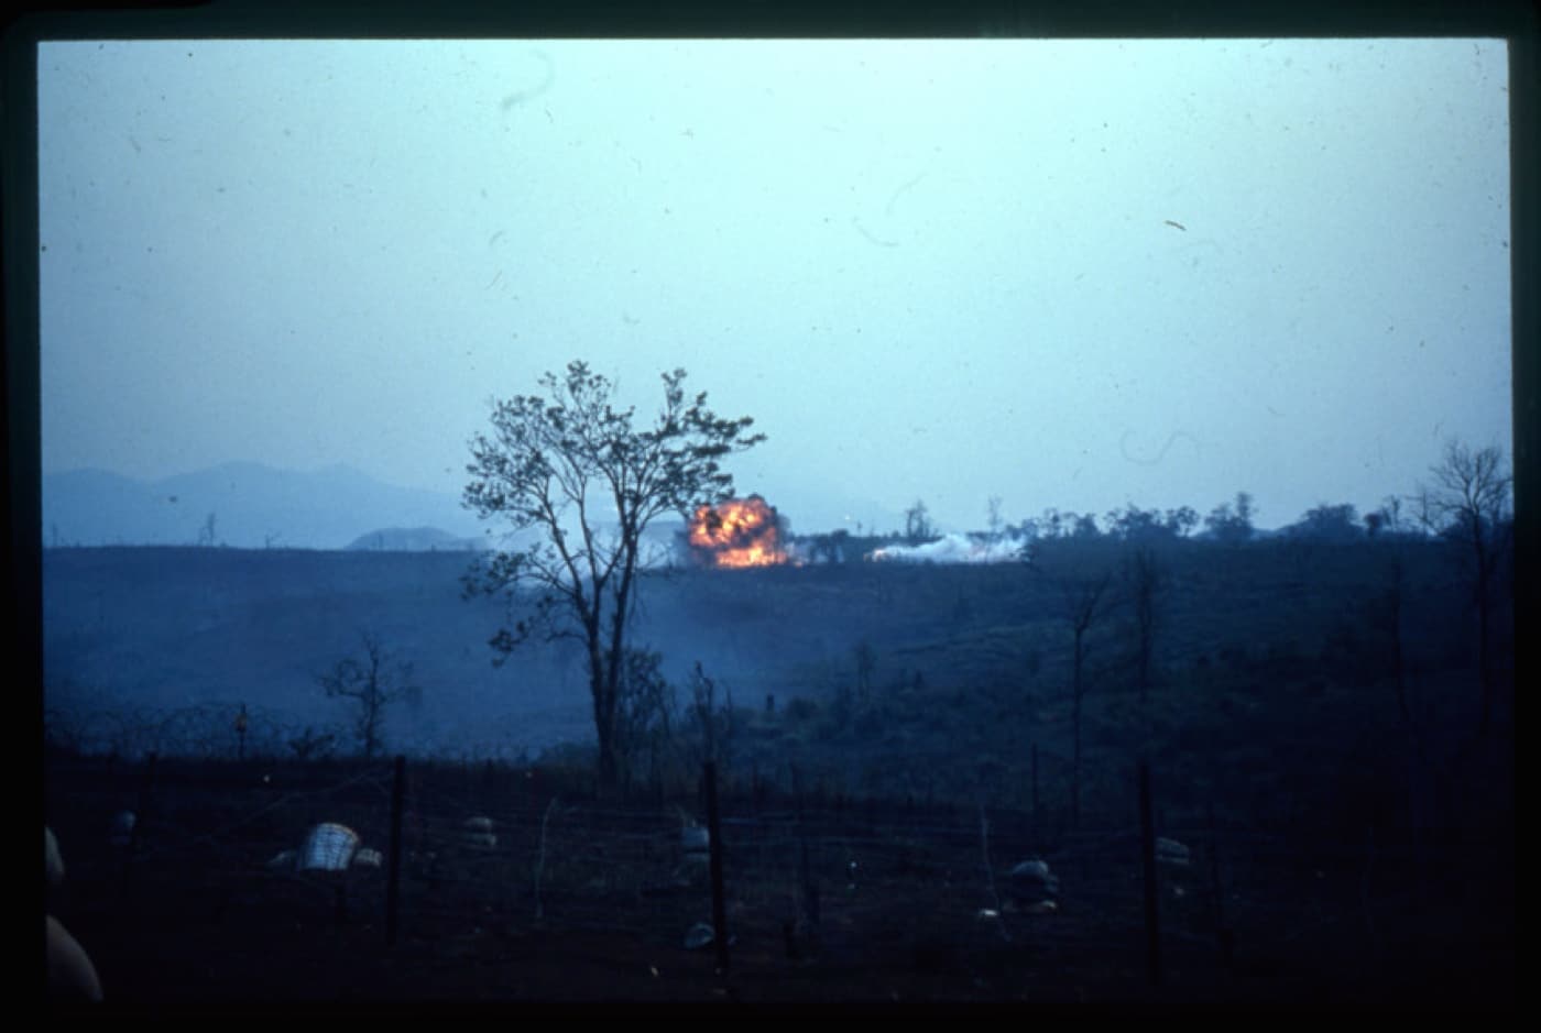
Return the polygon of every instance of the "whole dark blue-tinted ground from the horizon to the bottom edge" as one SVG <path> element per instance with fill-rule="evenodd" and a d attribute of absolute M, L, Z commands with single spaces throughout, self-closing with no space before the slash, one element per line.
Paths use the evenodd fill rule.
<path fill-rule="evenodd" d="M 499 611 L 461 599 L 459 557 L 52 551 L 49 907 L 128 1008 L 1510 1007 L 1509 603 L 1484 670 L 1445 543 L 1177 542 L 1142 676 L 1128 559 L 652 579 L 635 640 L 673 700 L 601 796 L 581 667 L 492 673 Z M 1077 705 L 1073 603 L 1102 580 Z M 350 714 L 316 687 L 361 627 L 424 684 L 385 730 L 408 756 L 393 942 L 388 865 L 271 864 L 319 822 L 390 853 L 391 764 L 344 759 Z M 712 751 L 726 973 L 686 947 L 712 919 L 684 856 Z M 1185 850 L 1156 867 L 1154 941 L 1142 761 L 1154 834 Z M 1016 891 L 1029 857 L 1053 911 Z"/>

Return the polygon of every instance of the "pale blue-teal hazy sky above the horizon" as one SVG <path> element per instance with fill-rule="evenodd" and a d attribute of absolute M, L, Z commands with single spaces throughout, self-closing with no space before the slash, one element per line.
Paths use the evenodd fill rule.
<path fill-rule="evenodd" d="M 459 494 L 683 366 L 794 531 L 1261 527 L 1512 443 L 1502 40 L 68 42 L 42 460 Z"/>

